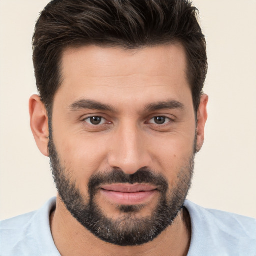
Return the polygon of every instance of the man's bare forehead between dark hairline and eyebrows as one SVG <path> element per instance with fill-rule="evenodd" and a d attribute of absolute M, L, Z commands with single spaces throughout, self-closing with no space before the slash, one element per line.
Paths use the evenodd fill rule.
<path fill-rule="evenodd" d="M 62 55 L 61 73 L 62 83 L 55 99 L 61 95 L 66 101 L 96 97 L 105 103 L 123 103 L 144 95 L 146 104 L 146 100 L 182 95 L 184 90 L 191 94 L 185 51 L 180 44 L 138 49 L 95 45 L 67 48 Z"/>

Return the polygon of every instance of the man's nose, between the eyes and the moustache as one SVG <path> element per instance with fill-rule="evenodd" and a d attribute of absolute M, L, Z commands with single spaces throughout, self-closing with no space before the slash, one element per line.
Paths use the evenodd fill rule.
<path fill-rule="evenodd" d="M 110 141 L 108 164 L 133 174 L 142 167 L 149 167 L 151 157 L 143 131 L 136 125 L 123 124 L 114 132 Z"/>

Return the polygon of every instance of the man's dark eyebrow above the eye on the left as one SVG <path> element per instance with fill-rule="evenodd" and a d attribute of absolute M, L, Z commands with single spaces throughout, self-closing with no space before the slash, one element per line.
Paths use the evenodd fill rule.
<path fill-rule="evenodd" d="M 104 110 L 104 111 L 111 111 L 115 112 L 114 107 L 108 104 L 103 104 L 95 100 L 90 100 L 90 99 L 81 99 L 77 100 L 71 105 L 67 107 L 68 109 L 75 111 L 79 109 L 95 109 L 95 110 Z"/>

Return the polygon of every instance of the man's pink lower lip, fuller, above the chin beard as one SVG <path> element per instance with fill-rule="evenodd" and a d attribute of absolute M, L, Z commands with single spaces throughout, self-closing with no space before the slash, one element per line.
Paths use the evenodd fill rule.
<path fill-rule="evenodd" d="M 110 201 L 122 205 L 141 204 L 149 201 L 157 192 L 156 190 L 139 191 L 134 193 L 124 193 L 111 190 L 101 189 L 101 193 Z"/>

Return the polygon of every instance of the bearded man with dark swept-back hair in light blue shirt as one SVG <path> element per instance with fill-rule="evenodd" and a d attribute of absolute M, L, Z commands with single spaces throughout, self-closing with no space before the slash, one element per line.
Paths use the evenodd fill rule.
<path fill-rule="evenodd" d="M 191 3 L 51 1 L 33 61 L 58 195 L 1 222 L 1 255 L 255 255 L 255 220 L 185 200 L 208 101 Z"/>

